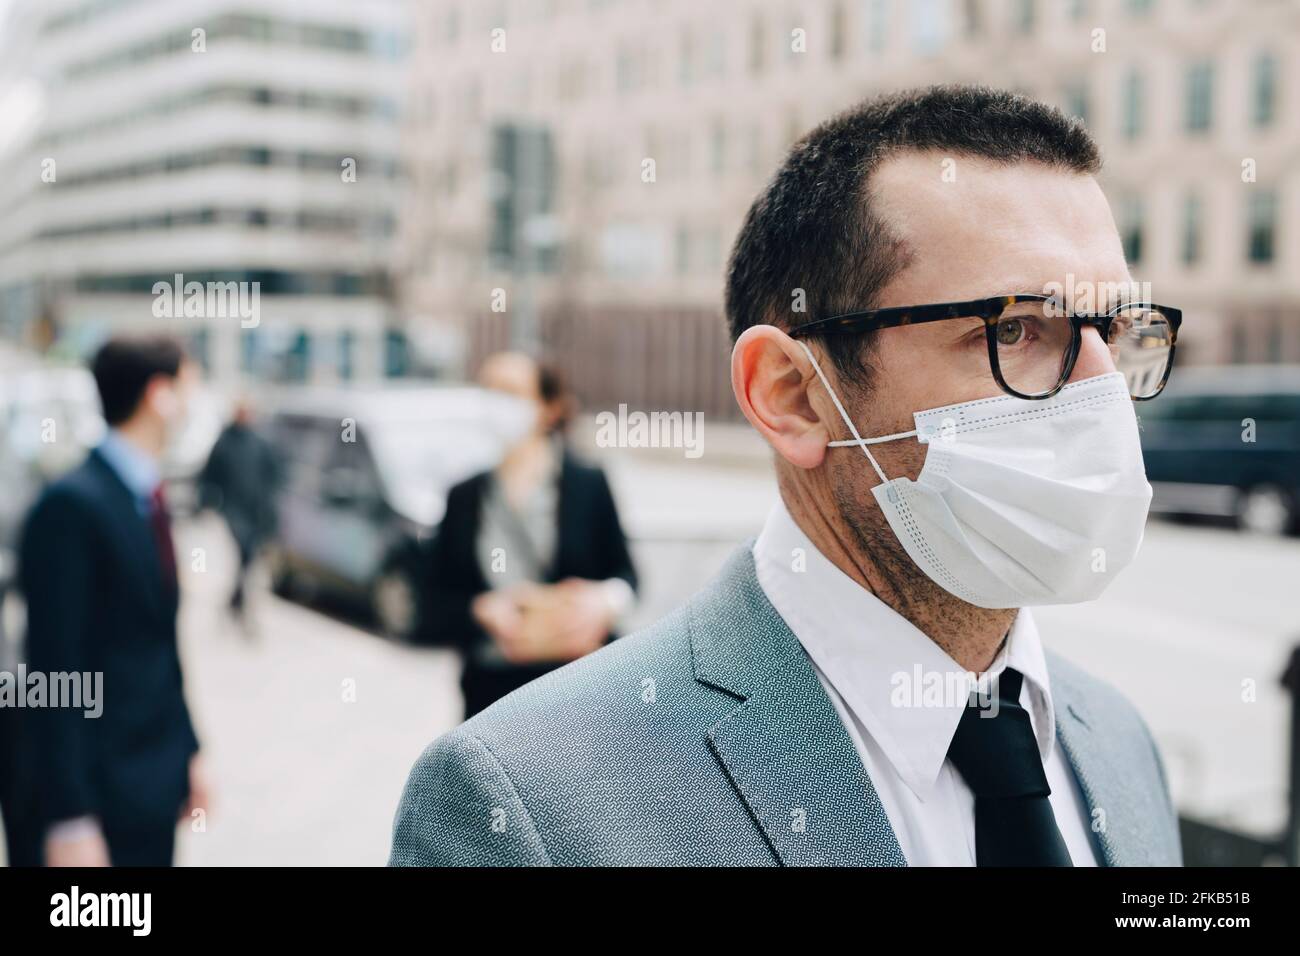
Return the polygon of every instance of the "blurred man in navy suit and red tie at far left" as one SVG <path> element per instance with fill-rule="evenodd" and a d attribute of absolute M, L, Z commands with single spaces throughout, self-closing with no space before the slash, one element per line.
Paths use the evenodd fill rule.
<path fill-rule="evenodd" d="M 36 502 L 20 574 L 29 671 L 101 672 L 103 711 L 31 711 L 31 825 L 51 866 L 165 866 L 178 819 L 207 805 L 159 473 L 191 371 L 165 337 L 112 339 L 92 371 L 108 434 Z"/>

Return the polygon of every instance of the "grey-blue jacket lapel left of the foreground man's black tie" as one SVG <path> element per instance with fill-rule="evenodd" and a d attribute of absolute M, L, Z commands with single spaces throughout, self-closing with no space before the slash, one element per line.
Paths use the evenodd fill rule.
<path fill-rule="evenodd" d="M 749 548 L 692 605 L 696 678 L 740 697 L 708 741 L 789 866 L 906 866 L 840 715 L 768 602 Z"/>

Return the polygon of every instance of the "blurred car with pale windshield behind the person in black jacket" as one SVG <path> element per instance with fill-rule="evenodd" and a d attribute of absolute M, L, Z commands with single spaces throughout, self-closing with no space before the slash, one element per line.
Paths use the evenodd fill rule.
<path fill-rule="evenodd" d="M 390 385 L 272 401 L 264 428 L 286 476 L 273 589 L 361 602 L 381 631 L 411 639 L 446 493 L 503 451 L 491 427 L 502 397 Z"/>

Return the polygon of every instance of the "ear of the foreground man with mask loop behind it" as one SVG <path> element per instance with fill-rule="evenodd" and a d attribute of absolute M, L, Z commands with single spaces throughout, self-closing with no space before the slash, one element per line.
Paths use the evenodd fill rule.
<path fill-rule="evenodd" d="M 732 349 L 732 392 L 749 423 L 797 468 L 816 468 L 831 432 L 809 401 L 816 372 L 798 342 L 775 325 L 753 325 Z"/>

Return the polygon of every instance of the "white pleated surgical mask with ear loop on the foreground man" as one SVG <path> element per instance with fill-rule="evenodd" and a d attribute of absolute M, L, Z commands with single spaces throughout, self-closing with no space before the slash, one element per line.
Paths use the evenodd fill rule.
<path fill-rule="evenodd" d="M 863 438 L 822 384 L 880 476 L 872 489 L 916 566 L 979 607 L 1091 601 L 1141 545 L 1150 485 L 1123 375 L 1066 385 L 1052 398 L 982 398 L 913 415 L 913 432 Z M 889 480 L 868 445 L 928 445 L 915 481 Z"/>

